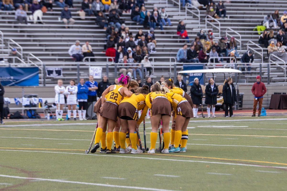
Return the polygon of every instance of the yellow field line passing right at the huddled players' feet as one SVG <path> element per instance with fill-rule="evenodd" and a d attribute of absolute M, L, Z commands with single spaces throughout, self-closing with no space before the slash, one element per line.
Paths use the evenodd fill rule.
<path fill-rule="evenodd" d="M 45 149 L 45 148 L 17 148 L 17 147 L 0 147 L 0 149 L 32 149 L 32 150 L 59 150 L 59 151 L 85 151 L 82 149 Z M 214 160 L 229 160 L 229 161 L 243 161 L 243 162 L 257 162 L 257 163 L 267 163 L 267 164 L 278 164 L 278 165 L 286 165 L 286 163 L 278 163 L 278 162 L 267 162 L 267 161 L 257 161 L 257 160 L 244 160 L 244 159 L 226 159 L 226 158 L 217 158 L 217 157 L 200 157 L 200 156 L 189 156 L 189 155 L 171 155 L 171 154 L 148 154 L 143 153 L 146 155 L 161 155 L 161 156 L 176 156 L 176 157 L 189 157 L 189 158 L 204 158 L 204 159 L 214 159 Z"/>

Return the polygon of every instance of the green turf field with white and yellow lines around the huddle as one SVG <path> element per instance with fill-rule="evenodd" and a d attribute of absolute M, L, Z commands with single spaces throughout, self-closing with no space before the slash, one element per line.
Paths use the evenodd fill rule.
<path fill-rule="evenodd" d="M 0 190 L 286 190 L 286 122 L 192 119 L 186 153 L 113 155 L 84 153 L 96 121 L 9 122 L 0 126 Z M 148 147 L 150 129 L 147 120 Z"/>

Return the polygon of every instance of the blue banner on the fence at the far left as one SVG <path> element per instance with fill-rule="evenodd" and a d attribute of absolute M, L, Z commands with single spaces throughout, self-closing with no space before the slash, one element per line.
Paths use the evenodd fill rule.
<path fill-rule="evenodd" d="M 3 86 L 39 86 L 39 68 L 1 67 L 0 81 Z"/>

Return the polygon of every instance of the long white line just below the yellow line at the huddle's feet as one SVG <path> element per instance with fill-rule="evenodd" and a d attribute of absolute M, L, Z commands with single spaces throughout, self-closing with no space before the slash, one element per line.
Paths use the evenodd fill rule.
<path fill-rule="evenodd" d="M 66 153 L 66 152 L 53 152 L 53 151 L 24 151 L 24 150 L 8 150 L 0 149 L 0 151 L 18 151 L 18 152 L 36 152 L 36 153 L 60 153 L 60 154 L 71 154 L 71 155 L 92 155 L 94 157 L 122 157 L 122 158 L 138 158 L 138 159 L 149 159 L 149 160 L 163 160 L 163 161 L 177 161 L 177 162 L 195 162 L 195 163 L 208 163 L 208 164 L 225 164 L 235 166 L 252 166 L 252 167 L 263 167 L 263 168 L 280 168 L 287 169 L 285 166 L 264 166 L 256 164 L 242 164 L 242 163 L 228 163 L 228 162 L 208 162 L 208 161 L 195 161 L 195 160 L 177 160 L 177 159 L 163 159 L 163 158 L 152 158 L 152 157 L 134 157 L 134 156 L 121 156 L 121 155 L 98 155 L 98 154 L 84 154 L 84 153 Z M 151 154 L 152 155 L 152 154 Z"/>

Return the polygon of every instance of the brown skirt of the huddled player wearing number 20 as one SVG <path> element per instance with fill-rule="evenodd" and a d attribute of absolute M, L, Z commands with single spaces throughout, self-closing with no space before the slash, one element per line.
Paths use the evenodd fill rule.
<path fill-rule="evenodd" d="M 168 99 L 163 97 L 158 97 L 152 101 L 152 115 L 170 115 L 171 114 L 171 106 Z"/>

